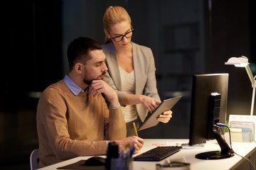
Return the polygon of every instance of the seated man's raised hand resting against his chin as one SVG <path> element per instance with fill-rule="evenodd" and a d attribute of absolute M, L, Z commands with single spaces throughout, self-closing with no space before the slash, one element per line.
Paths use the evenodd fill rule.
<path fill-rule="evenodd" d="M 103 80 L 93 80 L 90 84 L 89 96 L 97 96 L 98 94 L 105 94 L 110 100 L 110 107 L 116 108 L 119 104 L 117 93 Z"/>

